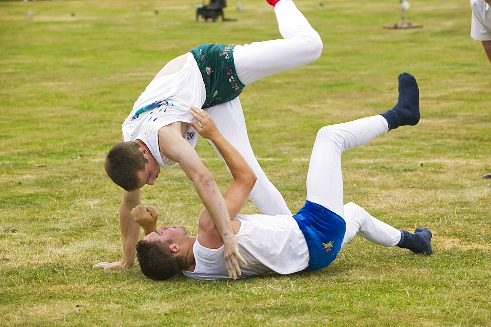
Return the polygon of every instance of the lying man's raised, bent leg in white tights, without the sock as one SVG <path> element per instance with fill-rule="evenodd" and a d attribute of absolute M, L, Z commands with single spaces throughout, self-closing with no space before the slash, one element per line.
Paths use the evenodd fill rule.
<path fill-rule="evenodd" d="M 307 173 L 307 200 L 345 218 L 343 208 L 343 151 L 368 143 L 388 131 L 381 115 L 325 126 L 317 132 Z"/>

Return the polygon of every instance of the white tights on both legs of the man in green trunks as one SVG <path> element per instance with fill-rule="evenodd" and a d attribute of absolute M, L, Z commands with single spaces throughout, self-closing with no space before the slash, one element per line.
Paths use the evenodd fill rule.
<path fill-rule="evenodd" d="M 323 45 L 319 34 L 310 26 L 292 0 L 276 3 L 274 13 L 284 39 L 253 42 L 234 48 L 237 76 L 244 84 L 315 61 L 322 52 Z M 285 200 L 268 180 L 252 152 L 240 100 L 236 98 L 206 111 L 217 124 L 221 134 L 244 156 L 254 170 L 257 182 L 250 193 L 250 199 L 256 207 L 265 215 L 291 215 Z"/>

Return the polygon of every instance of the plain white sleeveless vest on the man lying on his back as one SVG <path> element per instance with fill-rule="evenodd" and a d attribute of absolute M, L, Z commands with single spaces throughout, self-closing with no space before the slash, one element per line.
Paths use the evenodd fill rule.
<path fill-rule="evenodd" d="M 239 264 L 246 278 L 261 273 L 296 273 L 308 265 L 309 254 L 302 232 L 291 216 L 237 215 L 241 221 L 237 233 L 239 251 L 247 266 Z M 223 257 L 224 246 L 218 249 L 199 244 L 199 235 L 193 245 L 196 266 L 194 272 L 183 273 L 197 279 L 228 279 Z"/>

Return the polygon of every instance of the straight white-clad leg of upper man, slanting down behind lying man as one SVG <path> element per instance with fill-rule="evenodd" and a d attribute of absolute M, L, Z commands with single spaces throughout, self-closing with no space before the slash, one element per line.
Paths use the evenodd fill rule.
<path fill-rule="evenodd" d="M 266 174 L 259 166 L 259 163 L 252 152 L 249 137 L 247 136 L 244 113 L 239 98 L 208 108 L 206 109 L 206 112 L 208 112 L 213 119 L 220 133 L 237 149 L 237 151 L 239 151 L 256 174 L 256 184 L 249 194 L 249 198 L 254 205 L 265 215 L 291 216 L 290 209 L 288 209 L 283 196 L 269 181 L 268 177 L 266 177 Z M 223 160 L 223 157 L 217 151 L 213 142 L 210 140 L 208 141 L 221 160 Z M 228 170 L 228 172 L 230 173 L 230 170 Z"/>

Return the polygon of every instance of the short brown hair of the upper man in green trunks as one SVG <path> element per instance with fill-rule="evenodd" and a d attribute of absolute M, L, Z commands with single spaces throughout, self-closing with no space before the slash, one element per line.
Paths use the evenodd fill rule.
<path fill-rule="evenodd" d="M 138 143 L 120 142 L 109 150 L 104 169 L 114 183 L 130 192 L 138 189 L 137 173 L 145 169 L 146 163 Z"/>

